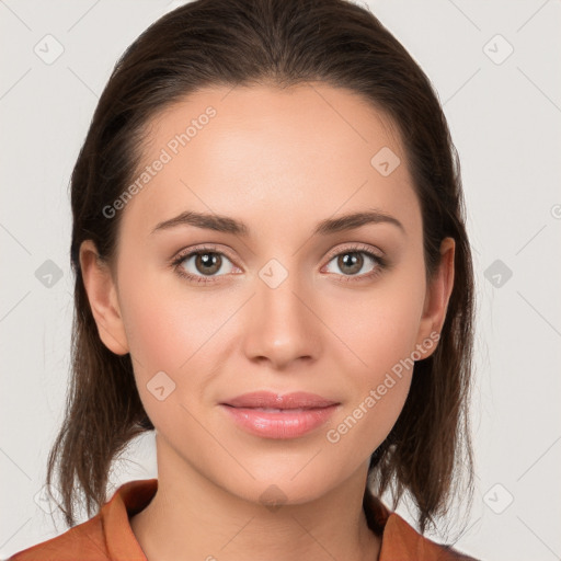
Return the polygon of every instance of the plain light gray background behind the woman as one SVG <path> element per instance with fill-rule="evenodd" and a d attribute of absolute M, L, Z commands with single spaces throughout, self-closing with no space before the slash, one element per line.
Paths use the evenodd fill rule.
<path fill-rule="evenodd" d="M 0 558 L 65 530 L 39 505 L 68 379 L 69 176 L 117 57 L 176 5 L 0 0 Z M 432 79 L 461 157 L 479 298 L 478 479 L 457 547 L 484 560 L 559 559 L 561 2 L 368 5 Z M 57 43 L 64 53 L 46 64 Z M 59 279 L 42 273 L 47 260 Z M 153 436 L 127 458 L 115 486 L 156 477 Z"/>

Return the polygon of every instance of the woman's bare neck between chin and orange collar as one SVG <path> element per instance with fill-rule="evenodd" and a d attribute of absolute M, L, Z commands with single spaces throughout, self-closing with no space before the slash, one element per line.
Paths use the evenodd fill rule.
<path fill-rule="evenodd" d="M 367 466 L 367 465 L 366 465 Z M 366 472 L 301 504 L 234 495 L 193 467 L 159 463 L 158 491 L 130 518 L 148 561 L 376 561 L 381 540 L 363 511 Z"/>

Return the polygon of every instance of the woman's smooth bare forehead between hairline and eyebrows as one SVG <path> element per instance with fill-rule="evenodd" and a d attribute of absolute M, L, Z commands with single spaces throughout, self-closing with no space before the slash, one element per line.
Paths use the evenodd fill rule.
<path fill-rule="evenodd" d="M 146 183 L 125 209 L 139 228 L 185 209 L 261 210 L 286 226 L 366 205 L 415 220 L 415 209 L 405 216 L 416 197 L 391 119 L 323 83 L 199 90 L 150 119 L 141 161 L 133 181 L 144 173 Z"/>

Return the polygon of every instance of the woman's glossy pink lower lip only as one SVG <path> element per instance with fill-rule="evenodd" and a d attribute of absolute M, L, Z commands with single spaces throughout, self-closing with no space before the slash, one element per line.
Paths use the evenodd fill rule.
<path fill-rule="evenodd" d="M 296 411 L 265 412 L 220 405 L 247 432 L 264 438 L 296 438 L 324 424 L 337 405 Z"/>

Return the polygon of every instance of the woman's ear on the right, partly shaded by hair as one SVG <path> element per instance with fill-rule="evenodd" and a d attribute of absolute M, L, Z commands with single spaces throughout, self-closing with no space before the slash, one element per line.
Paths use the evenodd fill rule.
<path fill-rule="evenodd" d="M 456 242 L 453 238 L 445 238 L 440 243 L 440 262 L 437 271 L 426 287 L 423 316 L 419 327 L 416 351 L 421 358 L 431 356 L 446 320 L 446 311 L 454 287 L 454 255 Z"/>

